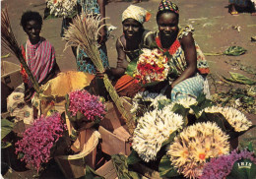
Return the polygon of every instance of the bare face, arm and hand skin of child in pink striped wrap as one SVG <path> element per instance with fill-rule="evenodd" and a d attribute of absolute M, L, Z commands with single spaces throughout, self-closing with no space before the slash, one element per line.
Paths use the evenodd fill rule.
<path fill-rule="evenodd" d="M 38 43 L 39 40 L 41 39 L 41 37 L 40 37 L 41 25 L 38 22 L 33 21 L 33 20 L 29 21 L 27 23 L 27 25 L 24 27 L 24 30 L 28 34 L 29 39 L 30 39 L 32 44 Z M 47 77 L 41 83 L 39 83 L 39 85 L 43 85 L 46 82 L 48 82 L 58 72 L 59 72 L 59 68 L 55 64 L 55 69 L 52 70 L 52 73 L 48 74 Z M 31 101 L 33 92 L 34 92 L 34 89 L 33 88 L 29 89 L 28 85 L 25 83 L 25 96 L 24 96 L 24 99 L 25 99 L 26 102 Z"/>

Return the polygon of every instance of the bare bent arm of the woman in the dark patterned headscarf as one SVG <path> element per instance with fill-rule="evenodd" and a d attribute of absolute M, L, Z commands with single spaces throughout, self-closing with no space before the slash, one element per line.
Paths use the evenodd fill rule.
<path fill-rule="evenodd" d="M 194 38 L 192 33 L 189 32 L 188 35 L 184 35 L 180 44 L 184 50 L 185 60 L 187 63 L 187 68 L 181 73 L 181 75 L 171 84 L 171 89 L 174 88 L 178 83 L 192 77 L 196 73 L 197 68 L 197 53 Z"/>

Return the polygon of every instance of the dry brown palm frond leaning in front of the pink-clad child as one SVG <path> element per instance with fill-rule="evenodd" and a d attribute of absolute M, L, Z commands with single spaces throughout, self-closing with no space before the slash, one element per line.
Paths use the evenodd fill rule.
<path fill-rule="evenodd" d="M 1 33 L 2 33 L 1 40 L 3 42 L 2 43 L 3 47 L 6 48 L 8 51 L 10 51 L 12 54 L 14 54 L 18 58 L 18 60 L 26 70 L 28 76 L 32 80 L 33 88 L 37 93 L 39 93 L 39 85 L 37 81 L 34 79 L 32 72 L 26 63 L 26 60 L 23 57 L 22 50 L 20 49 L 19 44 L 13 33 L 9 16 L 8 16 L 8 11 L 6 8 L 1 11 Z"/>

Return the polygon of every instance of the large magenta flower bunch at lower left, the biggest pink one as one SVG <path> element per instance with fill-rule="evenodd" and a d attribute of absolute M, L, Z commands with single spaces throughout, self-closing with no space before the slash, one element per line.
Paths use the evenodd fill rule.
<path fill-rule="evenodd" d="M 16 143 L 16 153 L 38 172 L 41 164 L 50 159 L 50 151 L 64 130 L 66 125 L 59 113 L 55 112 L 49 117 L 41 116 L 25 131 L 23 139 Z"/>

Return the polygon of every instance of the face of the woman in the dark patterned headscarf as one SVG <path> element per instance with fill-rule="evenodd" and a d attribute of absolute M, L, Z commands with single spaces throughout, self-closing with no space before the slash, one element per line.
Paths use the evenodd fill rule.
<path fill-rule="evenodd" d="M 178 17 L 174 13 L 162 13 L 157 23 L 163 37 L 172 37 L 178 31 Z"/>

